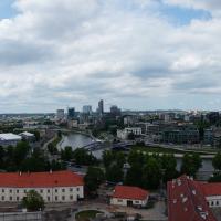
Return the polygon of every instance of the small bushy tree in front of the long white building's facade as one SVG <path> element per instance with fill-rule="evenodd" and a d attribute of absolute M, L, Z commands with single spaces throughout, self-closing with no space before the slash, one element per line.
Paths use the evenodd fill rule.
<path fill-rule="evenodd" d="M 30 190 L 23 198 L 22 206 L 31 211 L 43 210 L 44 200 L 35 190 Z"/>

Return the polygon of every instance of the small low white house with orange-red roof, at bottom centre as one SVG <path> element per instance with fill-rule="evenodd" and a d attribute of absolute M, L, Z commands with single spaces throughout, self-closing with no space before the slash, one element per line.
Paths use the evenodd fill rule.
<path fill-rule="evenodd" d="M 149 192 L 139 187 L 116 186 L 110 198 L 110 204 L 125 207 L 145 207 Z"/>

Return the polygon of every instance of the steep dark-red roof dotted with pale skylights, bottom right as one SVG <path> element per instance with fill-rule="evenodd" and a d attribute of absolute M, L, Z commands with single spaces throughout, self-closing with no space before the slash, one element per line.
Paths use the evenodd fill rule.
<path fill-rule="evenodd" d="M 187 176 L 168 182 L 168 221 L 217 221 L 199 182 Z"/>

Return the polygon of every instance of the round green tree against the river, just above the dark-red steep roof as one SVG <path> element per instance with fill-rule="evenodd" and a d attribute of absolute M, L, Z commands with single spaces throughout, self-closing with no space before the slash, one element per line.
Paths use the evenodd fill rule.
<path fill-rule="evenodd" d="M 202 159 L 198 154 L 185 154 L 182 157 L 181 172 L 196 177 L 196 173 L 201 166 Z"/>

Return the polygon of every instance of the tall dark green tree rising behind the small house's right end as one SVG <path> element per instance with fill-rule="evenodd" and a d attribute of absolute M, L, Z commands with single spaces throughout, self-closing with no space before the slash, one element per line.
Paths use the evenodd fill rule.
<path fill-rule="evenodd" d="M 144 167 L 143 186 L 146 189 L 157 189 L 160 185 L 161 171 L 159 161 L 149 157 Z"/>

